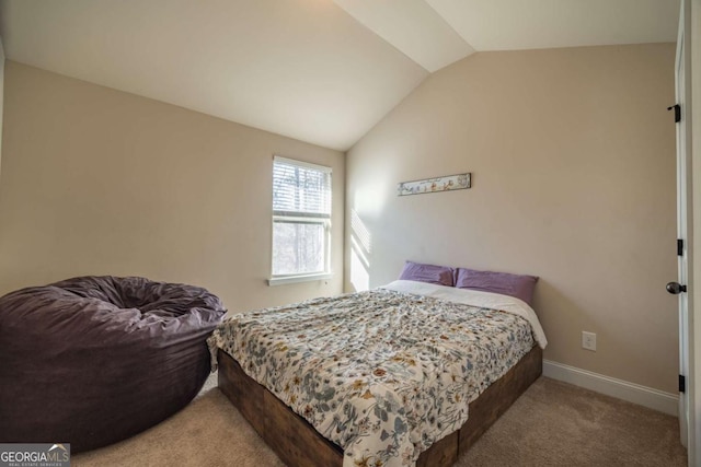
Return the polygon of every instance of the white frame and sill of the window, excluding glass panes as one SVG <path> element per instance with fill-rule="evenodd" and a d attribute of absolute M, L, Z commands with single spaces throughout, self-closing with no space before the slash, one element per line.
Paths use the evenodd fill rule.
<path fill-rule="evenodd" d="M 275 163 L 279 162 L 287 165 L 292 165 L 301 168 L 308 168 L 319 171 L 327 174 L 329 176 L 329 196 L 330 206 L 329 214 L 325 213 L 312 213 L 300 211 L 285 211 L 285 210 L 272 210 L 271 222 L 271 277 L 267 280 L 268 285 L 279 285 L 295 282 L 307 282 L 314 280 L 330 279 L 333 273 L 331 271 L 331 232 L 332 232 L 332 205 L 333 205 L 333 171 L 329 166 L 312 164 L 304 161 L 298 161 L 295 159 L 283 157 L 279 155 L 273 156 L 273 186 L 275 184 Z M 271 202 L 274 208 L 275 199 Z M 295 272 L 287 275 L 274 275 L 275 262 L 275 224 L 276 223 L 289 223 L 289 224 L 313 224 L 321 225 L 323 229 L 323 270 L 314 272 Z"/>

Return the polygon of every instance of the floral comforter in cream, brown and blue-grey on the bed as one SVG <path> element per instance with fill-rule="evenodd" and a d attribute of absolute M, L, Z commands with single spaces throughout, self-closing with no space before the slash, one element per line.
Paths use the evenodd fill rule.
<path fill-rule="evenodd" d="M 344 467 L 379 467 L 458 430 L 533 336 L 521 316 L 377 289 L 234 315 L 209 346 L 340 445 Z"/>

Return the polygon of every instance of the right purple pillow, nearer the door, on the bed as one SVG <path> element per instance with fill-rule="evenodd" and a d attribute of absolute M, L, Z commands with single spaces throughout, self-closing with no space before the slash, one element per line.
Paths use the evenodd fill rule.
<path fill-rule="evenodd" d="M 507 272 L 475 271 L 458 268 L 456 287 L 459 289 L 481 290 L 482 292 L 510 295 L 531 304 L 533 289 L 538 278 L 535 276 L 509 275 Z"/>

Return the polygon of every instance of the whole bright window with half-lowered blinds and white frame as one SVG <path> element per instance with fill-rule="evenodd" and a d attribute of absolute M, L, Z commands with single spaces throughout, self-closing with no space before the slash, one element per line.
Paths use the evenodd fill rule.
<path fill-rule="evenodd" d="M 271 284 L 330 273 L 331 168 L 275 156 Z"/>

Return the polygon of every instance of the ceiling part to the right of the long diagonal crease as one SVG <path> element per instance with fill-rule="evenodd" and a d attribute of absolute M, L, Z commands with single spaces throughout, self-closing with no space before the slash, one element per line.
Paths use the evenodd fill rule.
<path fill-rule="evenodd" d="M 675 42 L 679 0 L 334 0 L 429 72 L 475 51 Z"/>

